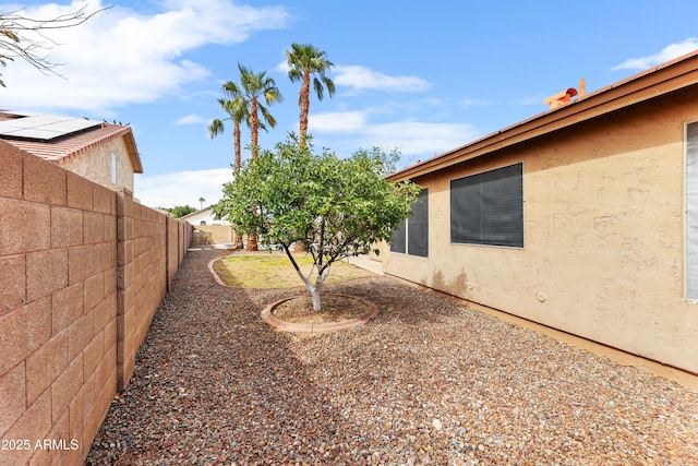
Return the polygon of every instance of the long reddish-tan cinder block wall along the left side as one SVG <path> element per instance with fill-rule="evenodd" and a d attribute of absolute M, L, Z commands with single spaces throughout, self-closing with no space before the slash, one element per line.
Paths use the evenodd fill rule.
<path fill-rule="evenodd" d="M 84 462 L 190 238 L 0 141 L 0 465 Z"/>

